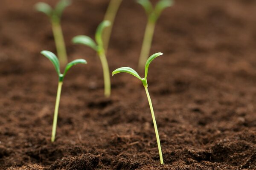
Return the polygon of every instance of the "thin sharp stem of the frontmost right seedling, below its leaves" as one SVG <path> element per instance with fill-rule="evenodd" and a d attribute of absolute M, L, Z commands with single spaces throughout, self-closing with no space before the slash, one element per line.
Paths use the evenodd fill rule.
<path fill-rule="evenodd" d="M 158 151 L 159 151 L 159 156 L 160 156 L 160 163 L 163 164 L 163 155 L 162 155 L 162 150 L 161 150 L 161 144 L 160 144 L 160 138 L 159 138 L 159 134 L 158 134 L 158 130 L 157 130 L 157 122 L 156 122 L 156 118 L 154 116 L 154 110 L 153 110 L 153 105 L 148 93 L 148 87 L 146 85 L 144 85 L 145 87 L 145 91 L 148 97 L 148 103 L 149 103 L 149 107 L 150 107 L 150 111 L 152 114 L 152 119 L 153 119 L 153 123 L 154 123 L 154 129 L 155 129 L 155 133 L 156 133 L 156 137 L 157 137 L 157 146 L 158 146 Z"/>

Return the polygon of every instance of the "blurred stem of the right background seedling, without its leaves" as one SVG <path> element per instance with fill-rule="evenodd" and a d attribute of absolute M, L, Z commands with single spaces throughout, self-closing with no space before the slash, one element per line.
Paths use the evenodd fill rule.
<path fill-rule="evenodd" d="M 140 51 L 140 60 L 139 60 L 139 66 L 138 66 L 140 70 L 142 70 L 145 67 L 145 63 L 149 57 L 151 43 L 154 35 L 154 29 L 155 29 L 155 22 L 148 20 L 145 34 L 144 34 L 142 48 Z"/>

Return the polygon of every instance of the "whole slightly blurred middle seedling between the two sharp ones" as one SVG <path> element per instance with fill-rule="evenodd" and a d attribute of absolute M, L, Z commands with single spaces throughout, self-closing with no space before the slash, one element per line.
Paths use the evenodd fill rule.
<path fill-rule="evenodd" d="M 108 20 L 104 20 L 104 21 L 102 21 L 102 23 L 99 24 L 99 26 L 96 30 L 96 34 L 95 34 L 96 42 L 93 39 L 91 39 L 90 37 L 85 36 L 85 35 L 78 35 L 78 36 L 74 37 L 72 40 L 73 43 L 87 45 L 90 48 L 93 48 L 93 50 L 95 50 L 98 53 L 99 59 L 102 63 L 102 68 L 103 68 L 104 88 L 105 88 L 105 96 L 106 97 L 109 97 L 111 94 L 111 82 L 110 82 L 108 61 L 107 61 L 105 49 L 103 46 L 104 44 L 103 44 L 103 40 L 102 40 L 102 31 L 104 30 L 104 28 L 106 28 L 110 25 L 111 25 L 111 22 Z"/>

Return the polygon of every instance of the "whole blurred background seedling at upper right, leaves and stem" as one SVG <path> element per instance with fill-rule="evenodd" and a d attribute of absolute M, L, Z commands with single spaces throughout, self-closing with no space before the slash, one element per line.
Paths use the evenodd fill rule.
<path fill-rule="evenodd" d="M 145 9 L 145 12 L 148 16 L 148 22 L 144 34 L 143 44 L 140 51 L 140 59 L 139 59 L 139 69 L 143 69 L 145 62 L 148 59 L 151 43 L 154 35 L 154 29 L 156 26 L 156 22 L 158 18 L 160 17 L 160 14 L 162 11 L 172 6 L 173 1 L 172 0 L 160 0 L 155 8 L 153 8 L 151 2 L 149 0 L 137 0 L 137 3 L 139 3 L 143 8 Z"/>

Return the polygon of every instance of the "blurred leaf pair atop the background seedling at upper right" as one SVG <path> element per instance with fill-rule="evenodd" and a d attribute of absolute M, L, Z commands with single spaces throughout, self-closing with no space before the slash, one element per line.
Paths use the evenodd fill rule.
<path fill-rule="evenodd" d="M 155 8 L 153 8 L 152 3 L 149 0 L 137 0 L 137 3 L 139 3 L 146 11 L 146 14 L 150 16 L 152 13 L 154 13 L 157 17 L 160 16 L 162 11 L 173 5 L 173 0 L 160 0 Z"/>

